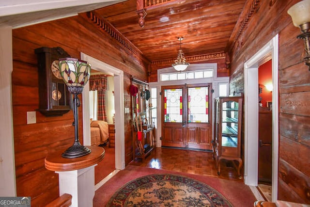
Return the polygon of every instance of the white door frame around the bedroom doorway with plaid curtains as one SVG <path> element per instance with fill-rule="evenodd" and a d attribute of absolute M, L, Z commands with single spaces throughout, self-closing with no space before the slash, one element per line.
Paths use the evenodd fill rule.
<path fill-rule="evenodd" d="M 125 168 L 125 129 L 124 129 L 124 72 L 81 52 L 81 60 L 87 61 L 92 68 L 114 76 L 115 104 L 115 168 Z M 89 111 L 89 83 L 82 93 L 83 105 L 83 142 L 91 145 L 91 124 Z"/>

